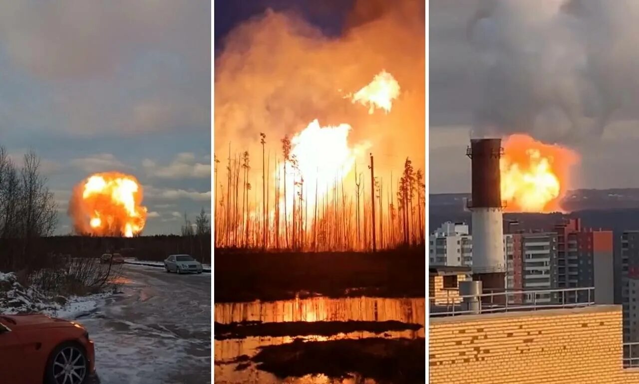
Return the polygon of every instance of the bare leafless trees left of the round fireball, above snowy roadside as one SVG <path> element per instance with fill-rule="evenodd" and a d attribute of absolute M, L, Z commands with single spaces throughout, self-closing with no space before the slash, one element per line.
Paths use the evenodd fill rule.
<path fill-rule="evenodd" d="M 0 147 L 0 270 L 35 265 L 36 239 L 52 235 L 58 204 L 40 172 L 40 158 L 30 151 L 17 166 Z"/>

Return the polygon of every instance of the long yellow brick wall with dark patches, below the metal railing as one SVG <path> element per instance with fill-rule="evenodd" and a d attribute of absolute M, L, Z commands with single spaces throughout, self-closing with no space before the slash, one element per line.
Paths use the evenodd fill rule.
<path fill-rule="evenodd" d="M 620 306 L 431 318 L 429 383 L 639 383 Z"/>

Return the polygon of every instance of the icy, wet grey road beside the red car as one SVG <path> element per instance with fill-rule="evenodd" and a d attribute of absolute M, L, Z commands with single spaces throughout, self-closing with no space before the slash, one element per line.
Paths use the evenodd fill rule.
<path fill-rule="evenodd" d="M 102 384 L 211 383 L 211 276 L 123 266 L 123 294 L 77 320 Z"/>

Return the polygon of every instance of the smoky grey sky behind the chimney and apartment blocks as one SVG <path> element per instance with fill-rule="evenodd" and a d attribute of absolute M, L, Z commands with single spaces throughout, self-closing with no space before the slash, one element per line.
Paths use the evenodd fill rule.
<path fill-rule="evenodd" d="M 498 4 L 497 8 L 491 8 L 495 4 Z M 596 115 L 591 113 L 592 110 L 614 104 L 615 109 L 603 124 L 603 130 L 594 129 L 595 133 L 586 127 L 587 124 L 582 126 L 581 122 L 587 119 L 580 119 L 581 115 L 576 119 L 579 123 L 569 128 L 562 127 L 566 123 L 563 117 L 541 120 L 547 124 L 539 127 L 537 110 L 534 116 L 527 115 L 530 118 L 528 122 L 534 121 L 531 125 L 535 127 L 525 129 L 535 138 L 560 142 L 580 153 L 581 164 L 573 171 L 572 188 L 639 187 L 639 174 L 636 172 L 639 67 L 633 64 L 639 57 L 636 49 L 632 48 L 637 43 L 638 2 L 431 0 L 429 10 L 431 193 L 470 191 L 470 162 L 465 156 L 465 149 L 473 122 L 477 121 L 473 111 L 493 96 L 482 88 L 485 78 L 477 71 L 477 62 L 486 59 L 481 57 L 481 44 L 484 48 L 498 44 L 500 48 L 507 47 L 507 51 L 504 49 L 500 53 L 506 51 L 504 55 L 511 59 L 522 52 L 525 55 L 516 57 L 527 57 L 522 62 L 528 65 L 529 71 L 523 71 L 525 75 L 517 77 L 521 84 L 510 84 L 508 91 L 512 92 L 508 94 L 509 98 L 500 100 L 508 108 L 507 112 L 515 111 L 513 115 L 523 111 L 517 110 L 521 105 L 516 104 L 521 102 L 518 97 L 522 94 L 527 98 L 521 99 L 534 101 L 535 107 L 557 103 L 562 107 L 568 104 L 569 109 L 576 105 L 576 115 L 586 117 Z M 493 15 L 492 19 L 475 24 L 475 29 L 470 27 L 471 20 L 486 15 Z M 477 29 L 483 30 L 478 32 Z M 470 41 L 477 36 L 481 38 Z M 486 52 L 491 54 L 488 49 L 483 51 Z M 547 60 L 549 52 L 561 59 Z M 489 59 L 495 60 L 492 62 L 495 64 L 504 57 L 489 56 Z M 549 62 L 551 64 L 546 66 Z M 514 66 L 508 64 L 504 64 L 504 68 L 512 70 Z M 517 69 L 521 70 L 521 67 L 523 65 Z M 540 73 L 541 77 L 535 78 Z M 527 82 L 535 84 L 532 88 L 537 94 L 525 92 L 525 85 L 530 85 Z M 548 84 L 541 84 L 543 82 Z M 537 87 L 537 84 L 541 85 Z M 493 89 L 500 96 L 507 94 L 499 93 L 504 91 L 500 87 L 502 85 L 497 84 L 497 88 Z M 593 88 L 597 89 L 593 91 Z M 577 101 L 571 100 L 573 96 Z M 566 100 L 570 102 L 562 104 Z M 566 128 L 573 137 L 567 140 L 566 137 L 550 134 L 550 131 L 559 128 Z"/>

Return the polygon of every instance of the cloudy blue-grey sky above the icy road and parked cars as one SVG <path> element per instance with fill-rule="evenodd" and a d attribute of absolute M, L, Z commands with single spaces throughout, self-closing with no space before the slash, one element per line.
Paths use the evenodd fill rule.
<path fill-rule="evenodd" d="M 210 2 L 0 4 L 0 145 L 42 158 L 59 202 L 119 170 L 144 186 L 145 234 L 179 233 L 211 202 Z"/>

